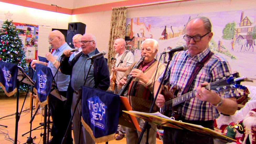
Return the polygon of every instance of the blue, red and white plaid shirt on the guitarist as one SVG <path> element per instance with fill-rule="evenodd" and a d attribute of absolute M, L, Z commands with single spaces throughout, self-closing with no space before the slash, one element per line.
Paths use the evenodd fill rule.
<path fill-rule="evenodd" d="M 202 51 L 200 54 L 191 57 L 188 51 L 181 51 L 173 57 L 173 60 L 168 67 L 168 72 L 164 76 L 164 85 L 170 84 L 171 87 L 177 85 L 182 92 L 186 83 L 192 74 L 196 63 L 200 62 L 210 51 L 209 48 Z M 214 82 L 217 78 L 227 76 L 231 73 L 228 62 L 218 54 L 212 57 L 204 64 L 198 75 L 195 77 L 191 84 L 191 90 L 196 90 L 200 83 Z M 159 77 L 160 82 L 163 74 Z M 236 96 L 232 90 L 222 92 L 223 98 L 230 98 Z M 220 94 L 220 93 L 219 93 Z M 178 96 L 181 94 L 179 93 Z M 198 98 L 192 98 L 182 103 L 179 106 L 178 112 L 186 120 L 213 120 L 220 116 L 218 110 L 213 107 L 209 102 L 201 101 Z"/>

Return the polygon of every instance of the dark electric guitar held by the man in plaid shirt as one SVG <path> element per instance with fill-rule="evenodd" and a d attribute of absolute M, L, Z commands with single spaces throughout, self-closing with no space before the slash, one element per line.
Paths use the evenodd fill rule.
<path fill-rule="evenodd" d="M 251 79 L 248 79 L 246 77 L 239 77 L 239 73 L 234 73 L 230 76 L 226 76 L 223 78 L 217 79 L 215 82 L 209 83 L 207 86 L 205 86 L 208 90 L 214 90 L 215 92 L 220 92 L 223 90 L 228 89 L 245 89 L 244 86 L 240 85 L 241 81 L 251 81 Z M 160 113 L 166 116 L 173 116 L 175 119 L 178 118 L 178 105 L 181 103 L 184 103 L 187 100 L 190 100 L 195 97 L 196 90 L 192 90 L 188 93 L 185 93 L 179 97 L 177 97 L 177 94 L 180 93 L 179 89 L 177 89 L 177 86 L 174 86 L 170 89 L 169 92 L 162 91 L 162 94 L 165 98 L 165 103 L 162 108 L 160 108 Z"/>

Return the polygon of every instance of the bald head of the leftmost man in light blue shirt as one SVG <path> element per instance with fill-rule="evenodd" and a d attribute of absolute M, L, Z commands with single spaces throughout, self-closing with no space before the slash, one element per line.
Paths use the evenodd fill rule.
<path fill-rule="evenodd" d="M 49 44 L 55 50 L 66 43 L 64 35 L 58 30 L 51 31 L 49 33 L 48 40 Z"/>

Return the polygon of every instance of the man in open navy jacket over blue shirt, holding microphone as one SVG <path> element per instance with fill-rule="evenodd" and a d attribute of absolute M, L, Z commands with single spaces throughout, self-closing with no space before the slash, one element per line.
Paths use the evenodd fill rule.
<path fill-rule="evenodd" d="M 93 61 L 93 66 L 89 70 L 91 60 L 87 58 L 98 54 L 99 51 L 96 48 L 96 38 L 92 34 L 84 34 L 79 41 L 82 52 L 79 52 L 72 61 L 69 61 L 69 57 L 72 55 L 70 50 L 65 50 L 65 59 L 61 64 L 61 71 L 64 74 L 71 75 L 71 81 L 68 86 L 67 104 L 71 105 L 71 111 L 73 113 L 76 100 L 79 96 L 79 88 L 83 85 L 85 76 L 89 72 L 85 86 L 97 88 L 101 90 L 107 90 L 109 88 L 109 71 L 108 65 L 103 56 L 96 57 Z M 73 135 L 75 144 L 78 143 L 79 137 L 79 114 L 81 112 L 81 101 L 78 104 L 73 118 Z M 95 143 L 90 134 L 82 127 L 81 131 L 81 143 Z"/>

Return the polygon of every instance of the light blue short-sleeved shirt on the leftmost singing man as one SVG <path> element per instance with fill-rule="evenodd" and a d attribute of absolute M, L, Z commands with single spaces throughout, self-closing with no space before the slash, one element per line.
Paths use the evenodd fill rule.
<path fill-rule="evenodd" d="M 67 49 L 72 50 L 72 48 L 69 47 L 67 43 L 65 43 L 62 46 L 60 46 L 57 50 L 52 52 L 52 55 L 55 58 L 57 56 L 56 60 L 60 61 L 60 56 L 62 55 L 63 51 L 67 50 Z M 74 56 L 71 55 L 69 60 L 72 60 L 73 58 L 74 58 Z M 47 67 L 49 67 L 51 69 L 53 75 L 57 71 L 57 68 L 55 68 L 55 66 L 51 62 L 48 62 Z M 63 74 L 60 71 L 58 71 L 58 73 L 55 76 L 55 82 L 57 83 L 57 87 L 58 87 L 59 91 L 67 91 L 69 81 L 70 81 L 69 75 Z"/>

